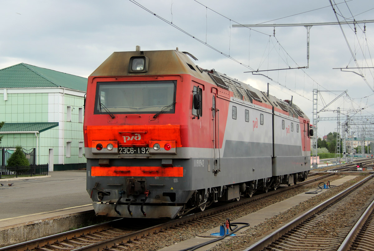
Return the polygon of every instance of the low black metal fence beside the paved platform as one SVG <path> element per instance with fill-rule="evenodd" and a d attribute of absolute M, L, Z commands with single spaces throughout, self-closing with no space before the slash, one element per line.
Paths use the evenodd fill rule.
<path fill-rule="evenodd" d="M 48 175 L 48 164 L 24 167 L 0 166 L 0 179 Z"/>

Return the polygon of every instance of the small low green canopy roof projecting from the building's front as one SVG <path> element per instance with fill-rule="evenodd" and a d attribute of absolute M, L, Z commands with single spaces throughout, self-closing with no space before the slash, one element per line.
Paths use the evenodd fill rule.
<path fill-rule="evenodd" d="M 36 132 L 41 133 L 42 131 L 58 126 L 58 122 L 51 123 L 4 123 L 3 127 L 0 128 L 1 133 L 27 133 Z"/>

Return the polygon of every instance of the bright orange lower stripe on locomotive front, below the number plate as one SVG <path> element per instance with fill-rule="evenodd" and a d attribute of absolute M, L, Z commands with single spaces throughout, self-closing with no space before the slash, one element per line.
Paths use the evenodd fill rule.
<path fill-rule="evenodd" d="M 183 177 L 183 167 L 91 167 L 91 176 Z"/>

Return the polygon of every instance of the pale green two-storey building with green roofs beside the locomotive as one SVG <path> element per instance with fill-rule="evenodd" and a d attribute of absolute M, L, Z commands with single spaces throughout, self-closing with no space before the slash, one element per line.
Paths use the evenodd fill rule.
<path fill-rule="evenodd" d="M 36 149 L 49 171 L 86 163 L 83 104 L 87 78 L 25 63 L 0 69 L 1 146 Z"/>

